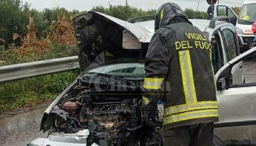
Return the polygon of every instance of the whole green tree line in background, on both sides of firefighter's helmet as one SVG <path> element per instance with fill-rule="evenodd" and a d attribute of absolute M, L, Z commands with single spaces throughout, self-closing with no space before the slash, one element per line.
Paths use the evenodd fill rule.
<path fill-rule="evenodd" d="M 129 5 L 109 5 L 108 8 L 103 6 L 95 6 L 93 11 L 99 11 L 111 15 L 122 20 L 127 20 L 137 16 L 153 16 L 156 10 L 138 9 Z M 21 39 L 16 39 L 13 42 L 13 34 L 17 33 L 22 37 L 26 35 L 27 25 L 29 25 L 29 17 L 34 19 L 36 26 L 36 36 L 39 39 L 45 38 L 51 33 L 53 25 L 58 21 L 58 17 L 65 16 L 71 22 L 71 17 L 86 11 L 68 11 L 65 8 L 44 9 L 37 11 L 31 9 L 28 3 L 23 3 L 21 0 L 1 0 L 0 1 L 0 38 L 4 38 L 9 44 L 21 45 Z M 193 9 L 184 10 L 188 18 L 208 19 L 206 12 L 194 11 Z"/>

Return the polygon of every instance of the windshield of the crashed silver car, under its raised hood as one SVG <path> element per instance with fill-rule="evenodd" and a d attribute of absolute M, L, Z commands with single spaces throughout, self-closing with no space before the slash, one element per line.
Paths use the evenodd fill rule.
<path fill-rule="evenodd" d="M 145 74 L 144 64 L 143 63 L 119 63 L 101 66 L 96 69 L 91 69 L 89 71 L 84 72 L 83 74 L 88 73 L 100 73 L 100 74 L 108 74 L 115 76 L 133 76 L 133 77 L 143 77 Z"/>

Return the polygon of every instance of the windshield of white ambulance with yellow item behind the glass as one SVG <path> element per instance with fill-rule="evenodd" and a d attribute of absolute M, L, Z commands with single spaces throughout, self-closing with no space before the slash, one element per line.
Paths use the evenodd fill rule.
<path fill-rule="evenodd" d="M 243 6 L 238 23 L 252 25 L 256 21 L 256 4 L 246 4 Z"/>

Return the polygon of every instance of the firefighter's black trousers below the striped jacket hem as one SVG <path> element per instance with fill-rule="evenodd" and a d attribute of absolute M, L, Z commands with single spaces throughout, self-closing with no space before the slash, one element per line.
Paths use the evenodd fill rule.
<path fill-rule="evenodd" d="M 164 130 L 164 146 L 212 146 L 213 123 Z"/>

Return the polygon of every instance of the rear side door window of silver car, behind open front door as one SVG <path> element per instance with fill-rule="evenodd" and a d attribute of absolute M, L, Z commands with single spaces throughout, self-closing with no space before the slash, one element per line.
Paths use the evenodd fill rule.
<path fill-rule="evenodd" d="M 223 41 L 225 43 L 225 50 L 227 53 L 228 61 L 234 59 L 237 56 L 237 48 L 235 43 L 235 34 L 228 29 L 222 31 Z"/>

